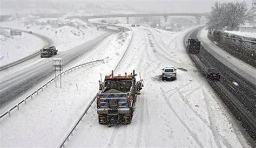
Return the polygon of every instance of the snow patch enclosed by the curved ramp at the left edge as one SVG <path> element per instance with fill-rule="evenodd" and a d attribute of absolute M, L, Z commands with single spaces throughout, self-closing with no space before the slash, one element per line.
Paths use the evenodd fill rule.
<path fill-rule="evenodd" d="M 41 50 L 45 43 L 29 33 L 11 37 L 10 30 L 0 29 L 0 66 L 22 59 Z"/>

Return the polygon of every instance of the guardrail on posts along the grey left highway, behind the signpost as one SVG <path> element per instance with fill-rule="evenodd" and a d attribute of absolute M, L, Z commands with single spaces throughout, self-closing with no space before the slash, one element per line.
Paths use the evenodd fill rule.
<path fill-rule="evenodd" d="M 77 66 L 74 66 L 74 67 L 71 67 L 69 69 L 66 69 L 64 72 L 60 73 L 60 74 L 65 74 L 65 73 L 69 73 L 70 71 L 73 71 L 75 69 L 79 69 L 80 67 L 84 67 L 86 65 L 90 65 L 90 64 L 96 64 L 97 62 L 103 62 L 104 59 L 102 60 L 95 60 L 95 61 L 90 61 L 90 62 L 86 62 L 84 64 L 80 64 L 80 65 L 77 65 Z M 51 80 L 49 80 L 48 82 L 46 82 L 42 87 L 39 87 L 37 90 L 35 90 L 32 94 L 30 94 L 29 96 L 25 97 L 22 101 L 19 101 L 16 105 L 14 105 L 13 107 L 11 107 L 10 109 L 8 109 L 7 111 L 5 111 L 1 116 L 0 116 L 0 121 L 1 121 L 1 118 L 3 118 L 4 116 L 6 115 L 9 115 L 11 116 L 11 111 L 16 109 L 19 110 L 19 105 L 21 105 L 22 103 L 25 103 L 26 104 L 26 101 L 28 99 L 33 99 L 33 95 L 37 94 L 38 95 L 38 91 L 39 90 L 44 90 L 44 88 L 47 88 L 49 84 L 51 84 L 53 81 L 55 81 L 58 76 L 60 75 L 58 74 L 57 76 L 53 77 Z"/>

